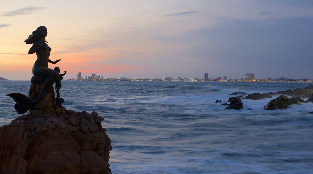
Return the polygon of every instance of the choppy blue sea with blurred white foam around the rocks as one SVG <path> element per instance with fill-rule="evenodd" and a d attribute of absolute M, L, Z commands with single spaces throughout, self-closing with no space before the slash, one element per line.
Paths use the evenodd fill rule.
<path fill-rule="evenodd" d="M 19 115 L 6 94 L 28 95 L 30 81 L 0 81 L 0 126 Z M 313 103 L 267 111 L 267 93 L 312 83 L 62 81 L 65 109 L 96 111 L 111 138 L 112 173 L 313 173 Z M 277 97 L 277 96 L 274 96 Z M 219 99 L 222 102 L 215 103 Z M 252 110 L 248 110 L 248 108 Z"/>

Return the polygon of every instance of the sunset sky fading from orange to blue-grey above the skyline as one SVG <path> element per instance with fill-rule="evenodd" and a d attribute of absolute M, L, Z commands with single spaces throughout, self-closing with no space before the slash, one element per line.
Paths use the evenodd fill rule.
<path fill-rule="evenodd" d="M 64 76 L 313 79 L 311 0 L 12 0 L 0 7 L 0 77 L 30 80 L 45 26 Z"/>

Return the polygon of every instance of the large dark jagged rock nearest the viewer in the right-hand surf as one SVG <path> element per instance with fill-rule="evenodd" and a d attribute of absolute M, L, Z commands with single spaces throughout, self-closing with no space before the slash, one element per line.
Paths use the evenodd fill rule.
<path fill-rule="evenodd" d="M 280 95 L 276 99 L 271 100 L 266 106 L 265 110 L 275 110 L 275 109 L 287 109 L 291 104 L 301 104 L 305 102 L 300 98 L 288 98 L 285 95 Z"/>

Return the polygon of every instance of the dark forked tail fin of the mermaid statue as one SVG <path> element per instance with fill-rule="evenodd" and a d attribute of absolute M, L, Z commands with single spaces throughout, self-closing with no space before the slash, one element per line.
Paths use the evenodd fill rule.
<path fill-rule="evenodd" d="M 20 93 L 11 93 L 6 96 L 12 97 L 12 99 L 17 103 L 14 105 L 14 109 L 18 114 L 24 114 L 37 102 L 36 100 L 28 99 L 27 96 Z"/>

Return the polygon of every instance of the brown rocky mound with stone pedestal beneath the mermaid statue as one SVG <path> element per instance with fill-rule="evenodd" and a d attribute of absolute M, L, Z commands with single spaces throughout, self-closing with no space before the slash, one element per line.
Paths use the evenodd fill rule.
<path fill-rule="evenodd" d="M 41 85 L 31 85 L 30 98 Z M 110 173 L 104 118 L 66 110 L 54 100 L 51 88 L 29 114 L 0 127 L 0 173 Z"/>

